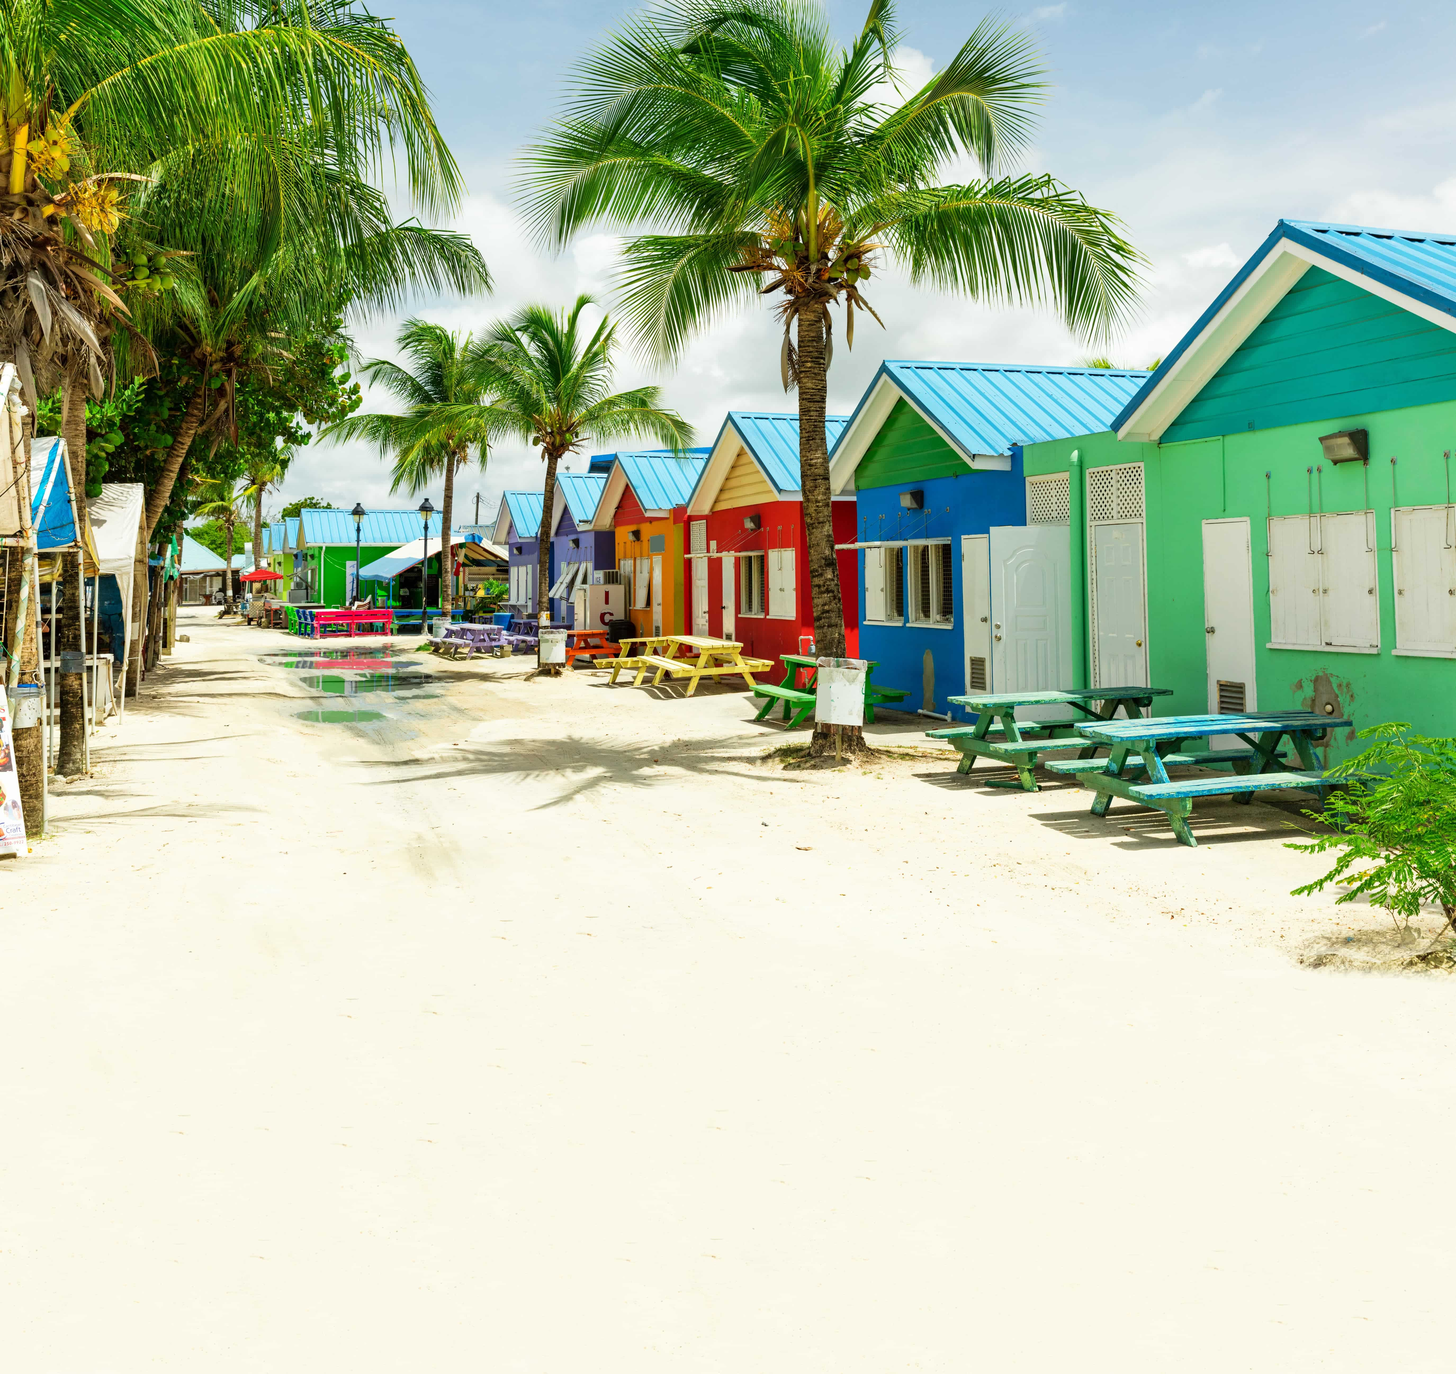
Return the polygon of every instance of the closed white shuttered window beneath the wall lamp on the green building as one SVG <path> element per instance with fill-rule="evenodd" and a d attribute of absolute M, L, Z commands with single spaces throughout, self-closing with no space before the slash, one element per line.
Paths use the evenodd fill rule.
<path fill-rule="evenodd" d="M 1268 521 L 1270 648 L 1380 648 L 1374 512 Z"/>

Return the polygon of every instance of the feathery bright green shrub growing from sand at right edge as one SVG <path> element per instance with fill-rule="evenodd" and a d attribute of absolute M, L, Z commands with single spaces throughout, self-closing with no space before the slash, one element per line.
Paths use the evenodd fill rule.
<path fill-rule="evenodd" d="M 1374 742 L 1329 770 L 1347 779 L 1321 812 L 1306 812 L 1334 827 L 1303 854 L 1338 851 L 1335 866 L 1296 895 L 1344 888 L 1340 902 L 1366 898 L 1398 924 L 1425 905 L 1439 905 L 1447 926 L 1456 918 L 1456 739 L 1411 735 L 1405 722 L 1360 731 Z"/>

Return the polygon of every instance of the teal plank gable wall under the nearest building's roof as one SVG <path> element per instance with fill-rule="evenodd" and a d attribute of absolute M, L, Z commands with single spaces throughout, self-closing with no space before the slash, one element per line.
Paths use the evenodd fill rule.
<path fill-rule="evenodd" d="M 1452 399 L 1456 335 L 1310 268 L 1168 426 L 1163 444 Z"/>

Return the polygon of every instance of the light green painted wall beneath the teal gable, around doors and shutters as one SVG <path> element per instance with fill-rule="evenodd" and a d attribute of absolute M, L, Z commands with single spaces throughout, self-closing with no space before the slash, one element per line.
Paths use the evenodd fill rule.
<path fill-rule="evenodd" d="M 1322 461 L 1319 435 L 1370 431 L 1370 464 Z M 1203 521 L 1249 518 L 1254 575 L 1254 642 L 1258 704 L 1296 710 L 1332 694 L 1357 726 L 1411 720 L 1427 734 L 1456 735 L 1456 659 L 1405 658 L 1395 648 L 1395 589 L 1390 566 L 1392 505 L 1447 501 L 1444 450 L 1456 444 L 1456 402 L 1364 415 L 1328 416 L 1300 425 L 1255 429 L 1174 444 L 1124 444 L 1111 432 L 1032 444 L 1026 476 L 1082 473 L 1111 463 L 1143 463 L 1147 557 L 1147 651 L 1153 686 L 1172 687 L 1160 715 L 1207 710 L 1203 616 Z M 1395 457 L 1396 499 L 1392 501 Z M 1318 479 L 1306 469 L 1321 467 Z M 1268 479 L 1265 479 L 1268 473 Z M 1073 482 L 1085 483 L 1075 474 Z M 1366 496 L 1369 485 L 1369 499 Z M 1322 492 L 1322 495 L 1321 495 Z M 1379 654 L 1268 649 L 1268 515 L 1303 515 L 1310 508 L 1374 511 L 1380 600 Z M 1073 495 L 1073 509 L 1077 508 Z M 1076 540 L 1073 541 L 1076 544 Z M 1073 568 L 1073 604 L 1086 605 L 1086 565 Z M 1082 639 L 1085 646 L 1085 636 Z M 1083 648 L 1085 655 L 1085 648 Z M 1083 656 L 1082 671 L 1086 671 Z M 1335 741 L 1331 758 L 1351 751 L 1353 732 Z"/>

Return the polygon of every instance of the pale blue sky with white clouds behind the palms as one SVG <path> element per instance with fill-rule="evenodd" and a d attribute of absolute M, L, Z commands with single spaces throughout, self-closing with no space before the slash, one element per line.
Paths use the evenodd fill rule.
<path fill-rule="evenodd" d="M 830 3 L 846 39 L 859 32 L 866 4 Z M 496 290 L 355 320 L 360 355 L 393 357 L 406 314 L 480 332 L 523 304 L 563 306 L 581 291 L 610 309 L 616 240 L 593 233 L 556 256 L 536 249 L 514 210 L 514 159 L 558 112 L 572 64 L 630 9 L 601 0 L 374 7 L 393 19 L 430 86 L 467 185 L 453 227 L 473 237 Z M 911 89 L 954 57 L 983 13 L 948 0 L 900 0 L 897 65 Z M 1075 364 L 1107 354 L 1146 367 L 1281 217 L 1456 231 L 1456 93 L 1447 70 L 1456 6 L 1064 0 L 992 13 L 1034 33 L 1051 83 L 1021 170 L 1050 172 L 1124 221 L 1150 262 L 1137 314 L 1093 348 L 1045 309 L 990 307 L 881 271 L 866 294 L 887 327 L 860 320 L 855 349 L 836 349 L 831 413 L 853 410 L 885 358 Z M 619 383 L 660 384 L 696 442 L 711 444 L 728 410 L 795 409 L 779 384 L 779 336 L 767 306 L 735 310 L 676 367 L 651 367 L 623 348 Z M 364 408 L 389 403 L 365 393 Z M 585 457 L 565 463 L 584 467 Z M 473 520 L 478 493 L 483 521 L 502 491 L 539 491 L 542 476 L 536 450 L 492 447 L 485 472 L 470 467 L 456 479 L 457 523 Z M 310 444 L 271 508 L 304 495 L 348 509 L 355 501 L 415 507 L 424 493 L 390 495 L 387 464 L 367 445 Z M 438 508 L 441 492 L 428 495 Z"/>

